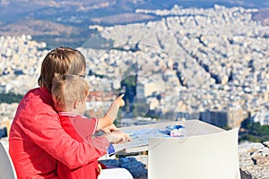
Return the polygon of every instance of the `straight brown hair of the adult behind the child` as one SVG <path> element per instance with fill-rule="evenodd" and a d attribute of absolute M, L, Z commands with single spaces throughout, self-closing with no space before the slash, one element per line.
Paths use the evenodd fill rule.
<path fill-rule="evenodd" d="M 85 57 L 70 47 L 57 47 L 44 58 L 39 76 L 39 86 L 51 92 L 55 73 L 79 75 L 86 69 Z"/>

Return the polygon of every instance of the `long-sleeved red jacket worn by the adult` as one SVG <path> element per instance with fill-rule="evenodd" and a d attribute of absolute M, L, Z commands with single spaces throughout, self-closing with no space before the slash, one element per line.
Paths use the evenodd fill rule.
<path fill-rule="evenodd" d="M 75 141 L 60 124 L 46 88 L 30 90 L 17 108 L 9 135 L 9 153 L 18 178 L 58 178 L 57 160 L 70 169 L 84 166 L 107 153 L 108 140 L 96 149 Z"/>

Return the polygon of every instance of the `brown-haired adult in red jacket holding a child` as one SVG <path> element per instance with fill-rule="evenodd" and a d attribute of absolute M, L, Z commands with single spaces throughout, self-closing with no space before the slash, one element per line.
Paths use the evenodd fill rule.
<path fill-rule="evenodd" d="M 44 58 L 40 87 L 22 98 L 10 130 L 9 153 L 18 178 L 58 178 L 57 161 L 77 168 L 104 155 L 109 141 L 127 139 L 125 134 L 105 134 L 96 140 L 100 144 L 96 147 L 75 141 L 62 128 L 50 93 L 52 79 L 55 72 L 83 75 L 85 66 L 81 52 L 68 47 L 56 48 Z"/>

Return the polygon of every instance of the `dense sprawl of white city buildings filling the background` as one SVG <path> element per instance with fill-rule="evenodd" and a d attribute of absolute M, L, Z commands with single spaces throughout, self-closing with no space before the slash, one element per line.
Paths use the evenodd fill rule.
<path fill-rule="evenodd" d="M 188 119 L 226 129 L 246 119 L 269 125 L 269 26 L 253 20 L 257 11 L 174 5 L 135 10 L 155 21 L 90 25 L 97 33 L 77 47 L 86 57 L 90 115 L 104 115 L 125 93 L 119 126 Z M 1 36 L 0 44 L 0 93 L 38 87 L 46 42 L 24 34 Z M 18 103 L 0 105 L 0 121 L 9 127 Z M 268 141 L 239 146 L 240 167 L 254 178 L 269 177 Z M 251 165 L 253 158 L 260 165 Z"/>

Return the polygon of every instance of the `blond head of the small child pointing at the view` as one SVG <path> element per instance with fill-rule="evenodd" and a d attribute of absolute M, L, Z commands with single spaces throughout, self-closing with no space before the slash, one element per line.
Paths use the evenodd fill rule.
<path fill-rule="evenodd" d="M 57 111 L 70 111 L 76 100 L 86 100 L 89 86 L 79 76 L 56 73 L 52 80 L 51 94 Z"/>

